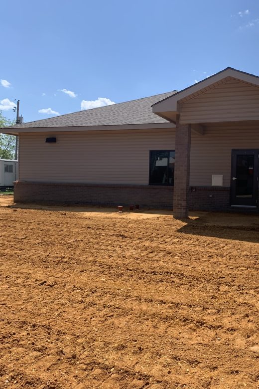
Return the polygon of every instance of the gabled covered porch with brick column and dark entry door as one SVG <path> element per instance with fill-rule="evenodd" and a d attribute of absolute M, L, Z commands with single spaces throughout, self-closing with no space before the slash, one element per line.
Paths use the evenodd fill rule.
<path fill-rule="evenodd" d="M 259 77 L 227 68 L 153 105 L 176 124 L 173 209 L 258 211 Z"/>

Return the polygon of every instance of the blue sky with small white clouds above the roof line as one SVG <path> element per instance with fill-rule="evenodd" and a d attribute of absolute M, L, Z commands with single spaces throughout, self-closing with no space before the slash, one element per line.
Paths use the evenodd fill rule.
<path fill-rule="evenodd" d="M 0 110 L 14 118 L 20 99 L 25 122 L 181 90 L 227 66 L 259 75 L 256 0 L 2 1 L 0 36 Z"/>

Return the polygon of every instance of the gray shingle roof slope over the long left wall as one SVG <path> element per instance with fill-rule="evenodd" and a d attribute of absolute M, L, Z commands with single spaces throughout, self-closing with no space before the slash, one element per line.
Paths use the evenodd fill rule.
<path fill-rule="evenodd" d="M 67 115 L 23 123 L 9 128 L 39 127 L 79 127 L 79 126 L 116 126 L 127 124 L 169 123 L 155 115 L 151 105 L 175 94 L 177 91 L 162 93 L 125 103 L 108 105 Z"/>

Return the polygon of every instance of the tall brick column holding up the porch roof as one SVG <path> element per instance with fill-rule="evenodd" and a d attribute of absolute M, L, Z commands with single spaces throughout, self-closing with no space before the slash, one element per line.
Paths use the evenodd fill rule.
<path fill-rule="evenodd" d="M 188 217 L 190 181 L 191 125 L 176 124 L 174 166 L 174 217 Z"/>

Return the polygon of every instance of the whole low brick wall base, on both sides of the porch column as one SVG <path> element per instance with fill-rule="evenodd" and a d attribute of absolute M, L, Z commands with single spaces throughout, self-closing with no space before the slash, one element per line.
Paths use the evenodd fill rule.
<path fill-rule="evenodd" d="M 135 205 L 172 209 L 173 187 L 115 184 L 14 183 L 15 202 L 45 202 L 93 205 Z M 190 210 L 250 211 L 231 208 L 230 188 L 190 187 Z M 257 209 L 251 209 L 259 212 Z"/>

